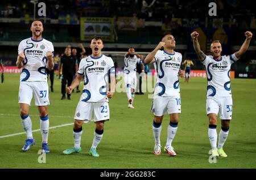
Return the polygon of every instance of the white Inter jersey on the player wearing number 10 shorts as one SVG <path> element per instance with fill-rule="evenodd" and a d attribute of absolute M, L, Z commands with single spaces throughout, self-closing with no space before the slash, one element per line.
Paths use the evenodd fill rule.
<path fill-rule="evenodd" d="M 178 52 L 169 54 L 158 50 L 155 54 L 155 70 L 158 73 L 154 95 L 178 96 L 180 95 L 179 70 L 182 55 Z"/>

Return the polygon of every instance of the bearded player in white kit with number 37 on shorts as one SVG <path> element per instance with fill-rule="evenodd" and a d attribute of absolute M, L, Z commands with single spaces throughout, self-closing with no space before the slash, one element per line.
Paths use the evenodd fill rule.
<path fill-rule="evenodd" d="M 49 102 L 49 89 L 47 83 L 47 72 L 52 70 L 53 62 L 53 45 L 52 42 L 42 38 L 44 30 L 41 20 L 34 20 L 30 28 L 32 37 L 26 38 L 19 43 L 18 58 L 16 66 L 23 70 L 20 74 L 19 85 L 19 106 L 22 125 L 26 131 L 26 144 L 22 150 L 24 152 L 35 144 L 32 135 L 32 122 L 29 115 L 30 102 L 34 96 L 35 105 L 38 106 L 40 114 L 40 130 L 42 134 L 42 149 L 49 153 L 48 134 L 49 118 L 47 105 Z"/>

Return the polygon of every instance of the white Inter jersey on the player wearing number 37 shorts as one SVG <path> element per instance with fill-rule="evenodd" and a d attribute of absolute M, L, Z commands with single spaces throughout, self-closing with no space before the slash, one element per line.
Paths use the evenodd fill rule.
<path fill-rule="evenodd" d="M 19 43 L 18 54 L 24 52 L 23 70 L 20 82 L 47 82 L 46 64 L 47 52 L 54 54 L 52 42 L 42 38 L 39 41 L 26 38 Z"/>

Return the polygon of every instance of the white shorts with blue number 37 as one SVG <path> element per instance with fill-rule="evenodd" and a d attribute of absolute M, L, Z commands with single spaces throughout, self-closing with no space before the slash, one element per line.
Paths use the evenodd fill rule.
<path fill-rule="evenodd" d="M 36 106 L 47 106 L 49 102 L 49 89 L 47 82 L 20 82 L 19 103 L 30 105 L 34 96 Z"/>

